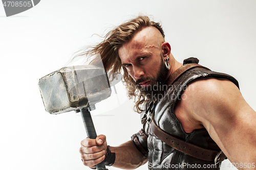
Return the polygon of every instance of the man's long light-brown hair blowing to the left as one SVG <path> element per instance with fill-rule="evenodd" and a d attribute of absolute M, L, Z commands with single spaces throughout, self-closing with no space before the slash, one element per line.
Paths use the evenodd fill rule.
<path fill-rule="evenodd" d="M 126 87 L 127 95 L 129 99 L 135 101 L 134 110 L 141 113 L 142 105 L 147 102 L 145 95 L 140 92 L 139 88 L 135 85 L 135 81 L 128 74 L 126 68 L 122 66 L 121 59 L 118 55 L 119 48 L 126 42 L 129 42 L 135 33 L 142 30 L 145 27 L 155 27 L 157 28 L 164 38 L 164 32 L 161 24 L 158 22 L 151 21 L 148 16 L 138 16 L 127 22 L 122 23 L 120 26 L 114 28 L 105 36 L 103 36 L 103 41 L 95 46 L 87 48 L 84 52 L 76 55 L 76 57 L 81 56 L 96 56 L 100 55 L 102 63 L 106 71 L 108 72 L 110 81 L 117 78 L 117 74 L 121 73 L 123 70 L 122 82 Z M 73 58 L 73 59 L 74 59 Z M 97 64 L 99 61 L 92 58 L 90 64 Z"/>

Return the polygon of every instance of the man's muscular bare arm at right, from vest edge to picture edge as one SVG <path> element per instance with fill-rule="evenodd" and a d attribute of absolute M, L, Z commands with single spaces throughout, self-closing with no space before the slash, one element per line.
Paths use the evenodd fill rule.
<path fill-rule="evenodd" d="M 249 161 L 248 155 L 255 158 L 256 114 L 238 87 L 225 79 L 204 79 L 190 85 L 194 91 L 187 93 L 189 114 L 206 128 L 226 156 L 233 162 Z"/>

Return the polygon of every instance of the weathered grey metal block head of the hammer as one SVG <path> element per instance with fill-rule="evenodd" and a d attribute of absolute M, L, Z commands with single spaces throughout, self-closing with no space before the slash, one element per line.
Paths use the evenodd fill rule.
<path fill-rule="evenodd" d="M 97 65 L 63 67 L 39 80 L 45 109 L 59 114 L 98 103 L 111 95 L 105 69 Z"/>

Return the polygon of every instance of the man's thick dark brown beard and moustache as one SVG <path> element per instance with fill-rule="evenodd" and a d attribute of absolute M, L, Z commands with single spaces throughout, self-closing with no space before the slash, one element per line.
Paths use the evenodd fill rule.
<path fill-rule="evenodd" d="M 161 58 L 161 63 L 159 66 L 159 71 L 157 77 L 147 77 L 141 78 L 136 81 L 136 86 L 139 87 L 141 93 L 146 96 L 147 100 L 156 101 L 162 99 L 162 93 L 167 90 L 166 78 L 168 75 L 168 70 L 165 67 L 165 64 Z M 144 81 L 150 81 L 151 84 L 145 87 L 141 87 L 139 83 Z M 160 95 L 161 94 L 161 95 Z"/>

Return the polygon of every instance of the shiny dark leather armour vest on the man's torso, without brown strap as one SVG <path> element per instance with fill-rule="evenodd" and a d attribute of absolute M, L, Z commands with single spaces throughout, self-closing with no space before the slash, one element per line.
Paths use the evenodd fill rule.
<path fill-rule="evenodd" d="M 174 113 L 175 104 L 178 100 L 182 99 L 182 91 L 188 84 L 195 79 L 205 77 L 228 79 L 239 87 L 238 81 L 229 75 L 205 68 L 192 68 L 186 71 L 168 88 L 165 92 L 165 98 L 161 99 L 156 105 L 153 102 L 147 103 L 141 115 L 145 117 L 155 114 L 154 120 L 156 125 L 170 135 L 205 149 L 220 151 L 220 148 L 211 139 L 206 129 L 198 129 L 191 133 L 186 133 Z M 148 169 L 220 169 L 221 163 L 214 165 L 214 162 L 191 157 L 170 147 L 154 135 L 148 127 L 148 123 L 144 124 L 144 131 L 148 136 L 146 141 Z M 140 142 L 143 143 L 143 141 Z"/>

